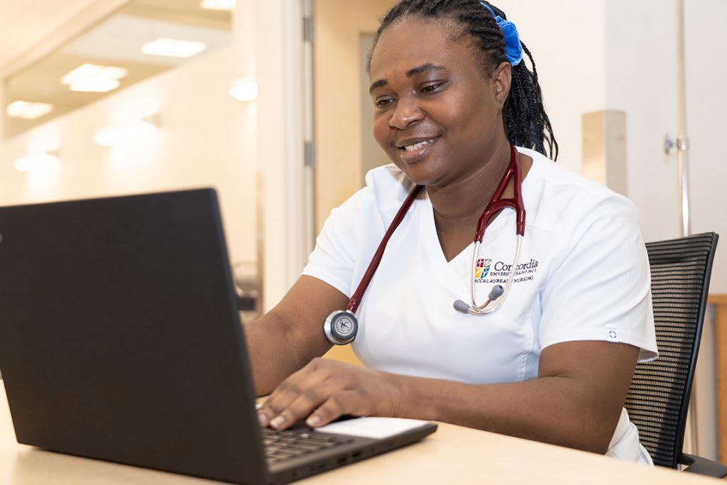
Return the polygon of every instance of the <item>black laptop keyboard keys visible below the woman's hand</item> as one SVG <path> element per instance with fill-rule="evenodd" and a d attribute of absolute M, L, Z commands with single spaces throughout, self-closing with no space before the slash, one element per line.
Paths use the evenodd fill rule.
<path fill-rule="evenodd" d="M 351 441 L 353 438 L 313 433 L 310 429 L 262 428 L 262 444 L 265 446 L 265 457 L 270 463 L 318 452 L 318 450 L 340 446 Z"/>

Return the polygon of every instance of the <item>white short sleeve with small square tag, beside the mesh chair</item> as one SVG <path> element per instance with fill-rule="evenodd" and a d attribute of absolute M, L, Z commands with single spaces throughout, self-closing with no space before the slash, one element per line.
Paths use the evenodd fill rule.
<path fill-rule="evenodd" d="M 633 204 L 602 201 L 564 237 L 541 290 L 541 348 L 606 340 L 640 348 L 640 361 L 656 358 L 648 255 Z"/>

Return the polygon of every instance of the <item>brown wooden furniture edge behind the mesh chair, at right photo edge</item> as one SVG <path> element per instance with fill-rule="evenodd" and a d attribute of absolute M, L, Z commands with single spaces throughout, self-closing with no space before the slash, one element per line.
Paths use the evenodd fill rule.
<path fill-rule="evenodd" d="M 717 361 L 717 426 L 720 463 L 727 463 L 727 294 L 710 294 L 715 305 L 715 360 Z"/>

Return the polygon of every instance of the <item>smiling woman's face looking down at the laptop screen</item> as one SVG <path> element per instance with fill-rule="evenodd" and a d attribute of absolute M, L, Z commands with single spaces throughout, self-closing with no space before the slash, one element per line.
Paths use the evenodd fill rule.
<path fill-rule="evenodd" d="M 491 77 L 454 25 L 409 17 L 382 33 L 371 55 L 374 137 L 414 183 L 465 179 L 505 140 L 502 105 L 510 67 Z"/>

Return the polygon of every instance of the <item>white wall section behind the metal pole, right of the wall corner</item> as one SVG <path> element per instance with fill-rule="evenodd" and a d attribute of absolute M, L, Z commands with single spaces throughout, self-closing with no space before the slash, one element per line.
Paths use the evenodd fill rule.
<path fill-rule="evenodd" d="M 627 111 L 630 198 L 646 240 L 680 236 L 677 159 L 662 151 L 664 135 L 677 131 L 675 1 L 612 0 L 606 12 L 608 108 Z M 630 15 L 623 15 L 624 11 Z M 692 233 L 727 234 L 727 165 L 716 156 L 727 132 L 723 79 L 727 40 L 715 33 L 727 4 L 685 1 L 687 135 Z M 727 252 L 717 252 L 711 292 L 727 292 Z"/>

